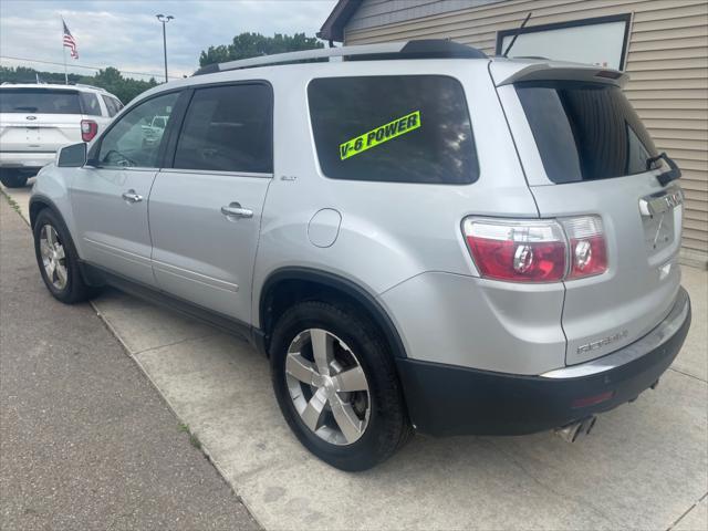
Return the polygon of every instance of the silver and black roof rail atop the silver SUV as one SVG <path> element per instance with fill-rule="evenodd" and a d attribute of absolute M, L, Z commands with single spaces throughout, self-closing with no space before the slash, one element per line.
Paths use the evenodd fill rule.
<path fill-rule="evenodd" d="M 301 52 L 278 53 L 260 58 L 209 64 L 194 75 L 212 74 L 228 70 L 252 69 L 280 63 L 315 62 L 331 58 L 345 58 L 350 61 L 381 61 L 387 59 L 486 59 L 487 55 L 476 48 L 444 39 L 419 41 L 385 42 L 357 46 L 324 48 Z"/>

